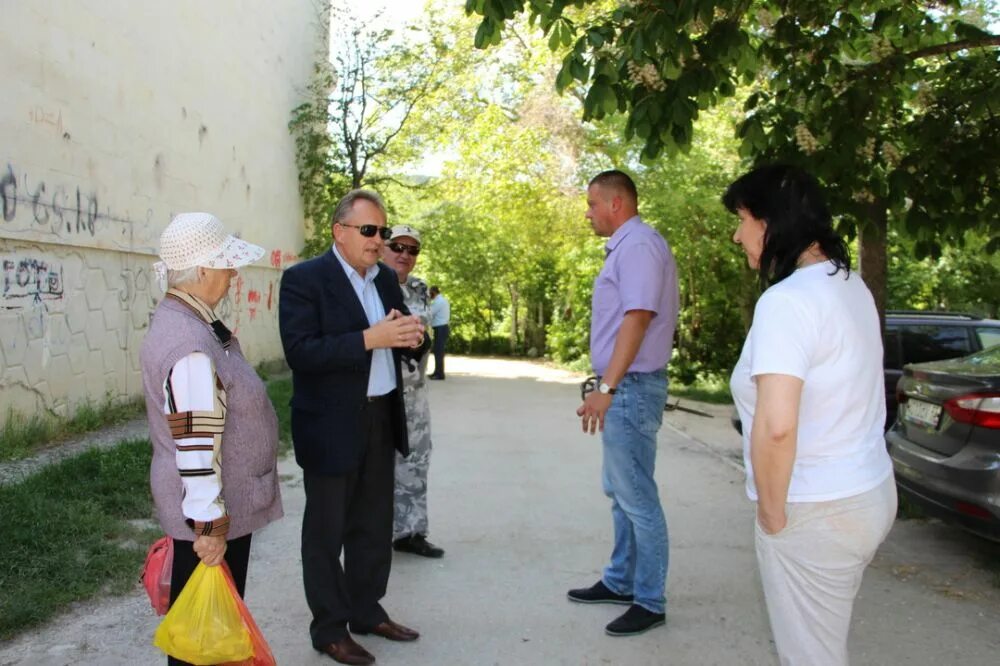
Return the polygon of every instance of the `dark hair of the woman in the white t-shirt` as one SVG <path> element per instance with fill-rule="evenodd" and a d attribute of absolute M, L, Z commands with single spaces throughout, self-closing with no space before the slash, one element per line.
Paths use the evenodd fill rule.
<path fill-rule="evenodd" d="M 785 164 L 757 167 L 726 188 L 722 203 L 730 213 L 742 208 L 767 224 L 757 269 L 761 287 L 795 272 L 799 256 L 813 243 L 838 271 L 850 273 L 850 251 L 833 230 L 819 182 L 801 169 Z"/>

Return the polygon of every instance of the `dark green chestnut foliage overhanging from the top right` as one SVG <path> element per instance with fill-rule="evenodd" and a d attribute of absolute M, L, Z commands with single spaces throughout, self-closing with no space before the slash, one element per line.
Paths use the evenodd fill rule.
<path fill-rule="evenodd" d="M 466 11 L 482 16 L 480 47 L 530 14 L 562 57 L 558 88 L 580 91 L 584 119 L 625 114 L 647 160 L 689 150 L 700 113 L 755 86 L 741 154 L 827 184 L 835 214 L 860 227 L 880 301 L 890 216 L 921 254 L 973 226 L 1000 246 L 1000 36 L 959 2 L 468 0 Z"/>

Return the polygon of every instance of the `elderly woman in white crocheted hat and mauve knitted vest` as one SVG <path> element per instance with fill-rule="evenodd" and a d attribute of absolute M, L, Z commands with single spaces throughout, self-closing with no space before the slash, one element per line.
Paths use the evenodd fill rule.
<path fill-rule="evenodd" d="M 277 417 L 215 314 L 236 269 L 263 254 L 208 213 L 182 213 L 160 236 L 154 268 L 167 293 L 139 357 L 153 443 L 150 485 L 160 524 L 174 540 L 171 604 L 199 561 L 225 559 L 242 595 L 252 533 L 282 516 Z"/>

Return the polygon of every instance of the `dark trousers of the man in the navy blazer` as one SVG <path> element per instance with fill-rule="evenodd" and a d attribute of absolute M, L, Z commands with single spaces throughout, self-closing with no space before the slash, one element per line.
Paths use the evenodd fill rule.
<path fill-rule="evenodd" d="M 344 476 L 304 473 L 302 581 L 315 647 L 347 636 L 348 622 L 351 629 L 367 630 L 389 619 L 379 601 L 392 565 L 392 404 L 390 398 L 362 407 L 368 441 L 356 470 Z"/>

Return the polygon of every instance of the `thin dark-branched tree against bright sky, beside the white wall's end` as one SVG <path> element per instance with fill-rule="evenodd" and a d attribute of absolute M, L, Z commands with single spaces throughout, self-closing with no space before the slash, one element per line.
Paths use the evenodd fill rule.
<path fill-rule="evenodd" d="M 346 9 L 320 18 L 333 26 L 332 62 L 320 58 L 306 101 L 292 111 L 299 185 L 313 233 L 302 256 L 329 247 L 329 219 L 349 190 L 384 190 L 422 150 L 407 124 L 461 61 L 446 26 L 428 15 L 400 38 Z M 326 23 L 324 23 L 326 25 Z M 412 33 L 412 34 L 411 34 Z M 418 186 L 412 181 L 405 186 Z"/>

